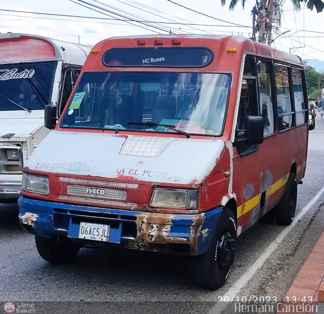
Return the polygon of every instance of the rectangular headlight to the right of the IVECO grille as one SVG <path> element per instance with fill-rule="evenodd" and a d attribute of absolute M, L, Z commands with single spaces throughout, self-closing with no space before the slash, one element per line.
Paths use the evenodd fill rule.
<path fill-rule="evenodd" d="M 150 206 L 196 210 L 198 208 L 198 191 L 155 188 L 151 197 Z"/>

